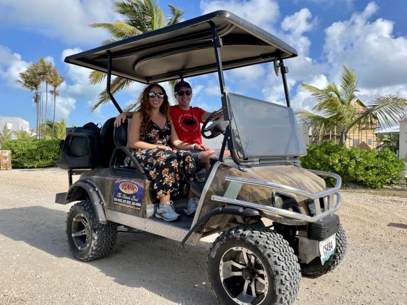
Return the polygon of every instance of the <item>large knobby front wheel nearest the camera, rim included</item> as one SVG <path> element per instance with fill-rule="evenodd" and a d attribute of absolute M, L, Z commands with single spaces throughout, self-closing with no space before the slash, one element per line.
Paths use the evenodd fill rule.
<path fill-rule="evenodd" d="M 301 273 L 280 234 L 247 225 L 231 228 L 213 242 L 208 278 L 221 304 L 289 305 L 296 300 Z"/>

